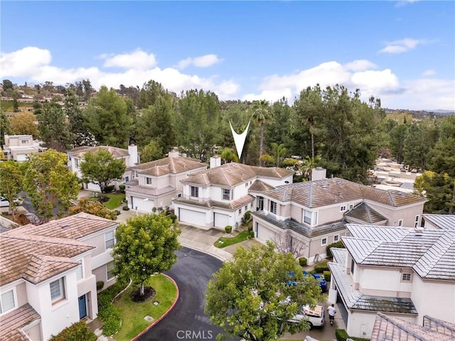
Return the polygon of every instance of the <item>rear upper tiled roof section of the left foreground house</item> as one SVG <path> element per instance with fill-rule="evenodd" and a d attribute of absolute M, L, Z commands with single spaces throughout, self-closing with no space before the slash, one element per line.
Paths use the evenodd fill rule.
<path fill-rule="evenodd" d="M 113 220 L 90 215 L 85 212 L 70 215 L 58 220 L 51 220 L 45 224 L 35 226 L 27 224 L 23 227 L 12 229 L 11 233 L 36 234 L 45 237 L 58 237 L 80 239 L 92 233 L 102 231 L 109 227 L 117 227 L 119 223 Z"/>

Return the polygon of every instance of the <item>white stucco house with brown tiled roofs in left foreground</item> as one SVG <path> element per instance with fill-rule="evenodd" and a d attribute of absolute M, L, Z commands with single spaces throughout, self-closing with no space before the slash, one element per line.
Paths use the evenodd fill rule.
<path fill-rule="evenodd" d="M 48 340 L 82 318 L 96 318 L 96 282 L 115 282 L 117 226 L 78 213 L 0 233 L 1 340 Z"/>

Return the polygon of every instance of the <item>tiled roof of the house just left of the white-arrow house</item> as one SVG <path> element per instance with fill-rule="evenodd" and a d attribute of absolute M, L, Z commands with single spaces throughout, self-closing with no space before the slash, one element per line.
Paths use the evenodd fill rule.
<path fill-rule="evenodd" d="M 160 158 L 159 160 L 146 163 L 139 163 L 132 167 L 139 174 L 161 176 L 167 174 L 178 174 L 193 169 L 207 167 L 196 158 L 185 158 L 183 156 Z"/>

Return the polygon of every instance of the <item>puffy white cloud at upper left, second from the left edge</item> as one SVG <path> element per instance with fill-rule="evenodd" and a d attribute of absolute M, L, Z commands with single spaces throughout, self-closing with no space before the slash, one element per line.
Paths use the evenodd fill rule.
<path fill-rule="evenodd" d="M 120 67 L 122 69 L 146 70 L 156 65 L 155 55 L 145 53 L 141 49 L 134 50 L 132 53 L 122 53 L 120 55 L 108 56 L 100 55 L 105 59 L 104 67 Z"/>

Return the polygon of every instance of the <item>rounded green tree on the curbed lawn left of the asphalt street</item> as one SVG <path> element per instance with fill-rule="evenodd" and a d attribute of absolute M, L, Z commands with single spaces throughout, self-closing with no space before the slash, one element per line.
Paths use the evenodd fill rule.
<path fill-rule="evenodd" d="M 120 224 L 112 253 L 119 281 L 126 283 L 132 279 L 140 284 L 140 293 L 144 295 L 144 282 L 176 263 L 174 251 L 180 248 L 180 234 L 181 229 L 173 226 L 171 218 L 164 214 L 140 215 Z"/>

